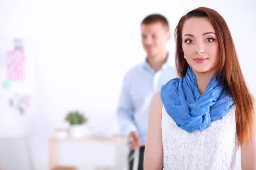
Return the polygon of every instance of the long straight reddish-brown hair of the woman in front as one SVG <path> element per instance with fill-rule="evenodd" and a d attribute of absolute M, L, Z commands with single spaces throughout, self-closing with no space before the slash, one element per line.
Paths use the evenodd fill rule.
<path fill-rule="evenodd" d="M 177 74 L 179 77 L 184 77 L 189 65 L 186 62 L 186 59 L 184 59 L 182 49 L 182 29 L 186 20 L 191 17 L 209 18 L 216 31 L 220 56 L 216 77 L 223 71 L 224 88 L 229 89 L 236 104 L 236 131 L 237 136 L 239 137 L 239 145 L 243 145 L 249 141 L 250 134 L 254 132 L 254 98 L 245 83 L 230 30 L 226 21 L 217 11 L 210 8 L 200 7 L 189 11 L 186 15 L 180 18 L 175 29 L 175 61 Z"/>

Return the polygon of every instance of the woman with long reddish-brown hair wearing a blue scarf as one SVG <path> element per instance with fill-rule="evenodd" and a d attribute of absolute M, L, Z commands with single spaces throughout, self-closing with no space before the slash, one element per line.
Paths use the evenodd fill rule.
<path fill-rule="evenodd" d="M 175 29 L 176 68 L 149 111 L 144 170 L 256 170 L 255 104 L 225 20 L 196 8 Z"/>

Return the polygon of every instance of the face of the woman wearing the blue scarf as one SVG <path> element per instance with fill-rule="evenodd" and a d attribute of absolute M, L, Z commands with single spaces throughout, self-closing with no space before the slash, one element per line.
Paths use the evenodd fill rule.
<path fill-rule="evenodd" d="M 216 32 L 207 17 L 192 17 L 184 23 L 182 48 L 193 72 L 216 71 L 219 45 Z"/>

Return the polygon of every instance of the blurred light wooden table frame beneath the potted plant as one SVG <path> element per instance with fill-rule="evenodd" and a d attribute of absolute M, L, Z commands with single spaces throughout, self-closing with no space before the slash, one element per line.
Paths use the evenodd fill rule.
<path fill-rule="evenodd" d="M 53 170 L 58 166 L 58 144 L 61 141 L 79 141 L 79 142 L 127 142 L 127 139 L 122 138 L 119 135 L 113 136 L 113 138 L 95 138 L 93 136 L 84 136 L 82 138 L 76 139 L 73 137 L 58 138 L 55 136 L 49 139 L 49 168 Z"/>

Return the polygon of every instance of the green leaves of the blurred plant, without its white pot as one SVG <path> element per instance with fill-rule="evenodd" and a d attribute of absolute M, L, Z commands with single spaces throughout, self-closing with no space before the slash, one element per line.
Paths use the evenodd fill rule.
<path fill-rule="evenodd" d="M 71 111 L 67 114 L 65 120 L 70 123 L 70 125 L 82 125 L 87 123 L 88 119 L 83 113 L 79 111 Z"/>

